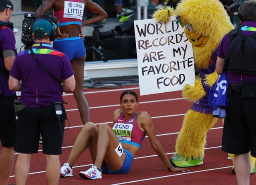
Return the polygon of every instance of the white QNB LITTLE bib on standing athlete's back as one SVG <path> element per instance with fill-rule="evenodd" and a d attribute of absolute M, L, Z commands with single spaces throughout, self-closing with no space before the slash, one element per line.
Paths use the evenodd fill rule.
<path fill-rule="evenodd" d="M 84 4 L 81 2 L 71 2 L 71 1 L 65 1 L 64 2 L 64 18 L 69 19 L 83 19 L 83 10 L 84 10 Z"/>

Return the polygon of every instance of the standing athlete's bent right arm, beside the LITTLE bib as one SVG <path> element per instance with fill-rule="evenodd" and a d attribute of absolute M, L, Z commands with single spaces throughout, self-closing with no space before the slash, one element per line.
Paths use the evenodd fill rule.
<path fill-rule="evenodd" d="M 99 5 L 92 0 L 84 0 L 85 7 L 92 13 L 95 14 L 91 19 L 88 19 L 82 23 L 82 26 L 89 25 L 101 21 L 107 18 L 107 12 L 104 11 Z"/>

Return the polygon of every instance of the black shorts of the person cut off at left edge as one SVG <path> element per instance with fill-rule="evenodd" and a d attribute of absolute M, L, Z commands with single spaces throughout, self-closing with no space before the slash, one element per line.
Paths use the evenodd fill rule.
<path fill-rule="evenodd" d="M 13 108 L 15 99 L 16 96 L 0 97 L 0 141 L 5 148 L 14 146 L 17 125 Z"/>

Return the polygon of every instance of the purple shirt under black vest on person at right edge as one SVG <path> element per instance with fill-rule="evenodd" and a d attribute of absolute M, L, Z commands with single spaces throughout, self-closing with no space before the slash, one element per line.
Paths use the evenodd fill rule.
<path fill-rule="evenodd" d="M 243 26 L 251 26 L 256 28 L 256 22 L 254 21 L 244 21 Z M 254 31 L 241 31 L 241 33 L 245 36 L 247 35 L 251 35 L 253 33 L 255 33 Z M 229 42 L 230 42 L 230 37 L 227 35 L 225 35 L 223 37 L 223 40 L 220 43 L 220 46 L 218 47 L 217 50 L 217 55 L 220 58 L 225 59 L 227 54 L 228 54 L 228 47 L 229 47 Z M 230 72 L 230 70 L 227 71 L 226 73 L 226 77 L 228 79 L 228 83 L 229 84 L 242 84 L 242 81 L 256 81 L 256 75 L 250 75 L 250 74 L 246 74 L 246 73 L 232 73 Z"/>

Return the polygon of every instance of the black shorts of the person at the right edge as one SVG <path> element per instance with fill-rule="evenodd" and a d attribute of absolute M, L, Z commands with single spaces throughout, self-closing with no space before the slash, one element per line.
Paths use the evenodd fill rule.
<path fill-rule="evenodd" d="M 242 85 L 228 88 L 229 106 L 223 127 L 222 150 L 232 154 L 251 150 L 251 155 L 256 157 L 256 96 L 242 98 L 243 89 Z"/>

